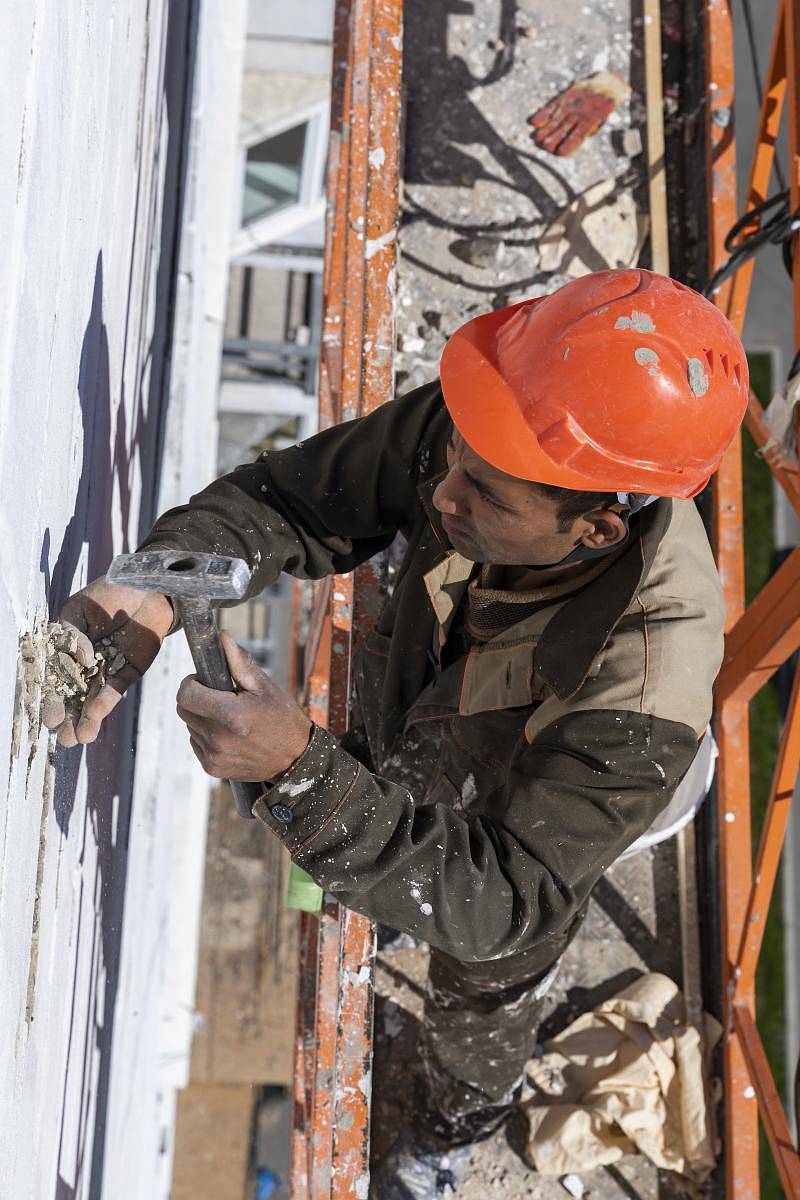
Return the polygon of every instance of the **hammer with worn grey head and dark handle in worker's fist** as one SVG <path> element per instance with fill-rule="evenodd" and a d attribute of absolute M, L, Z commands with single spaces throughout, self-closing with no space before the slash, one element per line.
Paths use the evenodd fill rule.
<path fill-rule="evenodd" d="M 236 690 L 211 601 L 241 600 L 245 595 L 251 570 L 242 558 L 182 550 L 144 550 L 138 554 L 118 554 L 106 578 L 109 583 L 169 596 L 184 625 L 200 683 L 217 691 Z M 229 782 L 239 816 L 254 820 L 252 808 L 263 792 L 260 784 L 239 779 Z"/>

